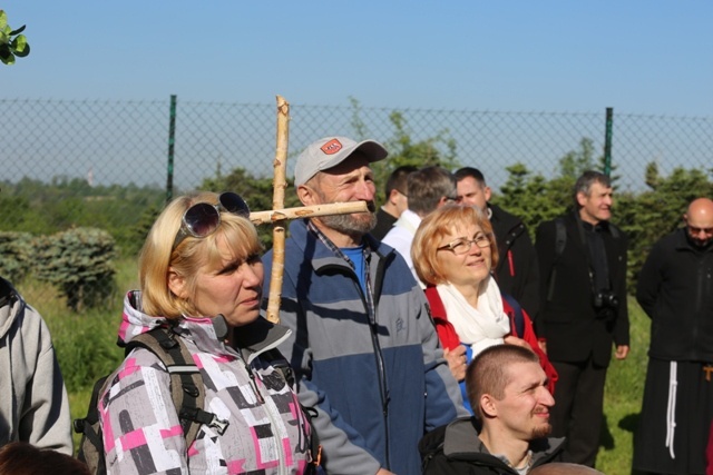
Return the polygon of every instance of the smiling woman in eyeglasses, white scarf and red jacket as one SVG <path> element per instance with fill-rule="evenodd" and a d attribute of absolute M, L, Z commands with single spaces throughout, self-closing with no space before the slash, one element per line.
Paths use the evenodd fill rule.
<path fill-rule="evenodd" d="M 512 297 L 500 293 L 491 274 L 498 247 L 492 226 L 480 209 L 446 205 L 431 211 L 416 232 L 411 256 L 416 273 L 427 285 L 426 297 L 443 354 L 469 410 L 466 367 L 492 345 L 531 348 L 554 389 L 557 374 L 539 348 L 529 317 Z"/>

